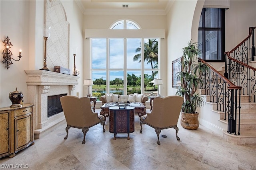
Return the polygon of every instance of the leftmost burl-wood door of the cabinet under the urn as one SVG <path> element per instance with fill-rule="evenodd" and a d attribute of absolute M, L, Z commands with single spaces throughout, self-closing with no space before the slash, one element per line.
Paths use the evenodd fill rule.
<path fill-rule="evenodd" d="M 0 154 L 10 153 L 10 111 L 0 114 Z"/>

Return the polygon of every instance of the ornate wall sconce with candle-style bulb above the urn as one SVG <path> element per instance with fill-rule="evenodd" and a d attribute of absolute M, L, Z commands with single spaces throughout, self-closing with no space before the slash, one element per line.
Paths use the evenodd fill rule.
<path fill-rule="evenodd" d="M 14 58 L 12 58 L 12 51 L 10 51 L 10 48 L 12 46 L 12 43 L 10 42 L 9 37 L 7 36 L 5 38 L 4 41 L 2 41 L 4 43 L 4 47 L 5 49 L 3 50 L 2 54 L 4 55 L 4 61 L 2 61 L 5 64 L 5 67 L 8 69 L 10 68 L 10 65 L 12 64 L 12 59 L 15 60 Z M 20 49 L 20 53 L 18 55 L 19 59 L 15 60 L 15 61 L 20 61 L 21 56 L 21 49 Z"/>

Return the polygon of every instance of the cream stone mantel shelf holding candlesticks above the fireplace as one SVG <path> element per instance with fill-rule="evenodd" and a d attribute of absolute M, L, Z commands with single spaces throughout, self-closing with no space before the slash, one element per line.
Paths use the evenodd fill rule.
<path fill-rule="evenodd" d="M 27 85 L 50 86 L 50 85 L 77 85 L 78 76 L 50 72 L 46 70 L 25 70 L 27 74 Z"/>

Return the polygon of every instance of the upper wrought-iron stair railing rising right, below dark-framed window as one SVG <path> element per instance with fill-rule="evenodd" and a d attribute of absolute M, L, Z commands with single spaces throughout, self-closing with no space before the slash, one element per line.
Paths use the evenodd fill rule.
<path fill-rule="evenodd" d="M 249 28 L 249 35 L 234 49 L 225 53 L 225 73 L 228 78 L 236 86 L 242 87 L 242 95 L 248 95 L 248 102 L 256 102 L 256 68 L 248 65 L 250 61 L 254 61 L 255 45 L 254 45 L 254 29 Z M 253 99 L 252 99 L 253 98 Z"/>

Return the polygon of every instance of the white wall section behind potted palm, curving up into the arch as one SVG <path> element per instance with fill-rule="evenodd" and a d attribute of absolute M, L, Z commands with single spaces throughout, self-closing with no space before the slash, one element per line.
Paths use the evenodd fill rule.
<path fill-rule="evenodd" d="M 172 61 L 182 57 L 182 48 L 188 45 L 191 38 L 193 42 L 197 40 L 197 35 L 192 37 L 192 21 L 196 3 L 196 0 L 175 1 L 167 15 L 168 96 L 176 93 L 176 89 L 172 88 Z"/>

